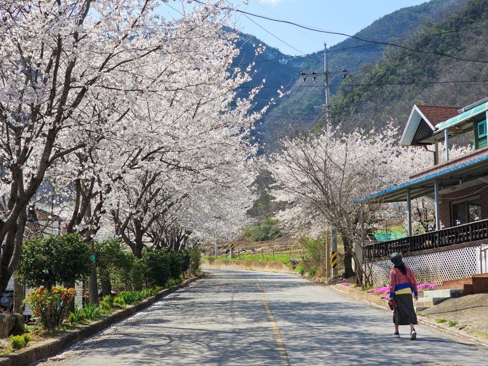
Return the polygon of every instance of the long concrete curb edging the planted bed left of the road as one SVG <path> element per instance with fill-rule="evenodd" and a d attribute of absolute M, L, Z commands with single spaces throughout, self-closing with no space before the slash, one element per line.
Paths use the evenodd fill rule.
<path fill-rule="evenodd" d="M 124 320 L 132 314 L 145 309 L 156 301 L 162 299 L 164 296 L 169 295 L 180 288 L 188 286 L 191 282 L 197 280 L 199 277 L 193 277 L 183 281 L 179 285 L 171 286 L 160 292 L 157 292 L 151 297 L 139 302 L 138 304 L 117 310 L 110 315 L 104 316 L 102 319 L 93 322 L 91 324 L 81 326 L 80 329 L 70 331 L 65 334 L 61 334 L 51 339 L 46 339 L 41 342 L 34 343 L 32 346 L 27 346 L 21 350 L 15 351 L 10 354 L 3 355 L 0 358 L 0 366 L 20 366 L 28 365 L 32 362 L 38 361 L 42 358 L 47 358 L 56 355 L 69 346 L 88 338 L 111 325 Z"/>

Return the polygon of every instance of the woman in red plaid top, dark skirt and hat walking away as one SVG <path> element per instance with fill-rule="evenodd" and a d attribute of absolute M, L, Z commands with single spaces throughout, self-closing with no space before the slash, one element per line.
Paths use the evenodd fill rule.
<path fill-rule="evenodd" d="M 417 281 L 410 267 L 405 266 L 402 260 L 402 254 L 393 253 L 390 257 L 395 266 L 389 273 L 389 303 L 392 299 L 397 303 L 393 310 L 393 323 L 395 323 L 394 338 L 400 338 L 398 327 L 401 325 L 410 326 L 410 339 L 417 338 L 417 332 L 414 325 L 418 324 L 417 315 L 413 308 L 412 292 L 415 301 L 418 300 Z"/>

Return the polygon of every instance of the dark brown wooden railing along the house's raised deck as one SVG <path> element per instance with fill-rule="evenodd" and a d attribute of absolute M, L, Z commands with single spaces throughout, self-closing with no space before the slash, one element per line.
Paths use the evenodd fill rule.
<path fill-rule="evenodd" d="M 378 258 L 395 252 L 413 253 L 483 239 L 488 239 L 488 220 L 475 221 L 397 240 L 382 241 L 365 246 L 364 251 L 368 258 Z"/>

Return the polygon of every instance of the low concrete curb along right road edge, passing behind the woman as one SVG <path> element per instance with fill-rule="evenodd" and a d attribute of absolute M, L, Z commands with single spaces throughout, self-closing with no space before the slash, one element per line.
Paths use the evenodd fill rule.
<path fill-rule="evenodd" d="M 354 297 L 366 300 L 368 302 L 379 305 L 379 306 L 384 307 L 385 309 L 389 310 L 388 301 L 385 299 L 382 299 L 376 295 L 368 294 L 368 293 L 363 292 L 363 291 L 358 291 L 358 290 L 355 290 L 354 287 L 351 288 L 349 286 L 333 285 L 333 286 L 329 286 L 329 287 L 331 287 L 334 290 L 340 291 L 340 292 L 346 292 L 349 295 L 352 295 Z M 467 333 L 464 333 L 464 332 L 462 332 L 456 328 L 443 326 L 442 325 L 443 323 L 435 323 L 434 320 L 431 320 L 428 318 L 417 317 L 417 320 L 419 323 L 421 323 L 423 325 L 426 325 L 426 326 L 429 326 L 432 328 L 436 328 L 437 330 L 440 330 L 440 331 L 444 331 L 447 333 L 454 334 L 460 338 L 463 338 L 463 339 L 478 343 L 480 345 L 483 345 L 485 347 L 488 347 L 488 339 L 474 337 L 474 336 L 467 334 Z"/>

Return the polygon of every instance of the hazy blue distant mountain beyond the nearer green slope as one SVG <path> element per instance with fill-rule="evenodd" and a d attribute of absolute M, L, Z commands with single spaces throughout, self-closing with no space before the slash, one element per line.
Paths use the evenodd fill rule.
<path fill-rule="evenodd" d="M 331 75 L 330 85 L 339 85 L 343 81 L 340 78 L 343 75 L 340 70 L 343 68 L 349 72 L 346 82 L 349 85 L 358 83 L 358 78 L 362 79 L 366 71 L 371 71 L 374 65 L 384 58 L 383 51 L 386 49 L 386 45 L 383 43 L 388 41 L 394 41 L 396 44 L 411 42 L 411 38 L 417 36 L 418 32 L 425 33 L 432 27 L 432 24 L 446 21 L 463 9 L 466 2 L 467 0 L 431 0 L 419 6 L 400 9 L 376 20 L 355 34 L 355 38 L 348 38 L 331 47 L 328 45 L 329 71 L 332 74 L 334 72 L 339 74 L 335 77 Z M 325 39 L 326 36 L 324 34 Z M 256 134 L 260 141 L 273 146 L 273 142 L 283 126 L 286 128 L 289 125 L 303 124 L 310 127 L 317 124 L 322 117 L 324 53 L 322 48 L 313 55 L 289 57 L 280 53 L 278 49 L 268 46 L 263 54 L 255 57 L 253 45 L 260 43 L 263 42 L 252 35 L 241 34 L 241 39 L 237 43 L 241 47 L 241 54 L 236 60 L 235 66 L 245 67 L 250 62 L 255 62 L 256 77 L 253 82 L 242 88 L 243 92 L 247 92 L 247 88 L 266 79 L 265 87 L 256 99 L 256 108 L 262 108 L 271 98 L 276 98 L 276 90 L 280 86 L 285 86 L 289 90 L 289 94 L 279 99 L 262 118 L 262 124 L 257 126 Z M 317 46 L 322 47 L 322 45 Z M 388 55 L 386 56 L 388 57 Z M 358 71 L 360 69 L 361 71 Z M 318 73 L 315 83 L 312 82 L 311 76 L 308 76 L 304 82 L 300 73 L 310 74 L 313 71 Z M 340 97 L 334 99 L 337 103 L 334 111 L 335 113 L 340 112 L 340 118 L 336 118 L 336 121 L 342 121 L 351 114 L 351 106 L 354 104 L 351 104 L 346 94 L 352 90 L 351 87 L 349 89 L 341 87 Z M 332 95 L 338 92 L 338 87 L 331 87 Z M 411 101 L 406 104 L 411 104 Z M 371 113 L 368 117 L 370 115 L 374 116 Z M 354 116 L 351 121 L 357 123 L 354 122 L 357 120 L 358 117 Z"/>

